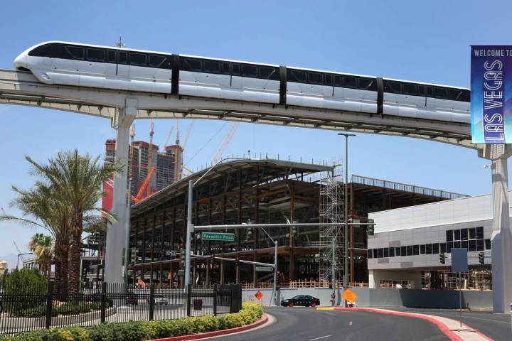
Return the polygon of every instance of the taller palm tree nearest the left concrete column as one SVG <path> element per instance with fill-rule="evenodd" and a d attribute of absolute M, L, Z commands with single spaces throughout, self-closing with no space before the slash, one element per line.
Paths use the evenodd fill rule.
<path fill-rule="evenodd" d="M 81 156 L 78 150 L 59 152 L 48 165 L 41 165 L 26 156 L 33 166 L 32 171 L 59 188 L 71 212 L 71 242 L 69 249 L 69 291 L 77 293 L 80 288 L 80 251 L 84 224 L 102 215 L 110 222 L 115 218 L 110 212 L 97 207 L 105 195 L 102 184 L 115 173 L 122 171 L 119 163 L 100 164 L 100 156 Z"/>

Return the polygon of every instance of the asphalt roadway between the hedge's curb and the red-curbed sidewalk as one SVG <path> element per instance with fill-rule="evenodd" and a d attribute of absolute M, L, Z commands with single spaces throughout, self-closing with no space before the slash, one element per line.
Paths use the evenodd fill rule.
<path fill-rule="evenodd" d="M 265 328 L 208 340 L 230 341 L 440 341 L 449 340 L 425 320 L 362 311 L 266 308 L 277 321 Z"/>

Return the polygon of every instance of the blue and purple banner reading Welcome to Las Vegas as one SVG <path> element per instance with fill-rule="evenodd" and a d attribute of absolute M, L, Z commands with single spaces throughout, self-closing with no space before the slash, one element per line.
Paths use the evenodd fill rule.
<path fill-rule="evenodd" d="M 512 144 L 512 46 L 471 46 L 471 139 Z"/>

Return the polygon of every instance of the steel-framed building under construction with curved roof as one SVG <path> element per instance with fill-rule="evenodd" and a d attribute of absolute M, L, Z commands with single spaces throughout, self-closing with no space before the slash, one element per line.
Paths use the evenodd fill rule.
<path fill-rule="evenodd" d="M 142 278 L 146 283 L 180 285 L 182 271 L 176 253 L 185 246 L 188 180 L 197 180 L 206 171 L 193 173 L 132 206 L 129 247 L 130 254 L 136 255 L 129 259 L 132 283 Z M 326 222 L 321 221 L 321 212 L 326 207 L 326 197 L 321 197 L 321 193 L 325 193 L 324 186 L 333 174 L 333 166 L 268 158 L 220 163 L 194 187 L 193 224 L 292 222 L 290 227 L 267 229 L 279 243 L 282 286 L 299 282 L 328 286 L 321 276 L 326 261 L 321 250 L 323 229 L 294 227 L 293 222 Z M 357 175 L 352 176 L 348 185 L 349 217 L 360 222 L 366 222 L 368 212 L 460 197 Z M 262 231 L 247 227 L 218 232 L 234 232 L 235 241 L 206 241 L 199 238 L 198 232 L 193 239 L 193 254 L 273 263 L 274 244 Z M 351 282 L 367 282 L 366 227 L 351 225 L 349 232 Z M 234 262 L 203 258 L 193 259 L 191 269 L 196 286 L 243 283 L 246 288 L 265 287 L 272 286 L 273 281 L 272 273 L 257 271 L 261 269 L 252 264 L 237 266 Z"/>

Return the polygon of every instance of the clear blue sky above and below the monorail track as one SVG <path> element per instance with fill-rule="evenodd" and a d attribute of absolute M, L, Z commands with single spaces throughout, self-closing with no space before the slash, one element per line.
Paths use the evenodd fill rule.
<path fill-rule="evenodd" d="M 378 75 L 469 87 L 469 45 L 511 44 L 511 1 L 2 1 L 0 67 L 45 40 L 113 45 Z M 0 207 L 11 185 L 29 187 L 24 155 L 45 161 L 59 150 L 93 155 L 114 137 L 109 121 L 48 109 L 0 105 Z M 189 121 L 181 122 L 185 134 Z M 173 120 L 155 121 L 163 144 Z M 196 120 L 188 166 L 209 163 L 230 124 Z M 219 131 L 218 134 L 215 132 Z M 137 121 L 136 139 L 149 139 Z M 176 129 L 174 129 L 176 131 Z M 174 139 L 174 136 L 171 138 Z M 226 154 L 298 160 L 344 157 L 334 131 L 240 124 Z M 476 151 L 410 138 L 358 134 L 349 173 L 471 195 L 491 191 Z M 1 223 L 0 255 L 23 249 L 35 231 Z"/>

